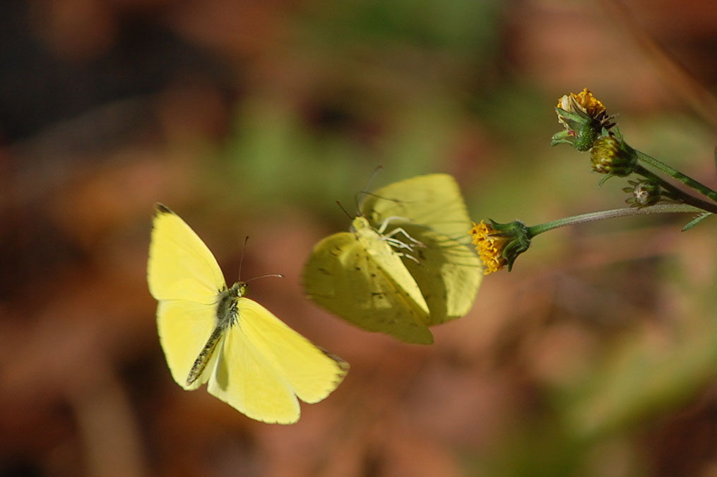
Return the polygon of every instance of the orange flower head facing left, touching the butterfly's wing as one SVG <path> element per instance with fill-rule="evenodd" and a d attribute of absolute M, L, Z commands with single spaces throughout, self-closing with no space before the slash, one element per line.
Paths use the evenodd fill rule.
<path fill-rule="evenodd" d="M 485 267 L 485 275 L 497 272 L 505 265 L 511 271 L 518 255 L 531 246 L 528 227 L 518 220 L 509 224 L 499 224 L 491 219 L 487 222 L 473 222 L 473 228 L 470 229 L 473 245 Z"/>

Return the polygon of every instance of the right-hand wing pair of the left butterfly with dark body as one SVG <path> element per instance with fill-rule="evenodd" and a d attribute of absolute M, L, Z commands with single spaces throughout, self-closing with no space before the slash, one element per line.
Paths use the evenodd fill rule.
<path fill-rule="evenodd" d="M 288 424 L 305 402 L 327 397 L 348 363 L 326 353 L 249 298 L 237 301 L 238 318 L 219 346 L 209 392 L 249 417 Z"/>

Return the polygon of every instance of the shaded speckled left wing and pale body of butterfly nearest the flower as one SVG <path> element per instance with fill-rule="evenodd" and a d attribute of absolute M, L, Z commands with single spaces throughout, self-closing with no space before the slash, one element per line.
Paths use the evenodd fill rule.
<path fill-rule="evenodd" d="M 356 326 L 431 344 L 428 306 L 400 256 L 357 217 L 357 232 L 318 242 L 304 267 L 307 296 Z"/>

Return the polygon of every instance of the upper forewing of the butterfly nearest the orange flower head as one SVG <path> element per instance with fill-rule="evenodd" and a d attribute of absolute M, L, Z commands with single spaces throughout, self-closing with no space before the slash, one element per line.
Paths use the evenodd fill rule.
<path fill-rule="evenodd" d="M 458 184 L 448 174 L 416 176 L 382 187 L 361 202 L 361 214 L 374 228 L 390 217 L 400 217 L 459 242 L 470 242 L 470 217 Z"/>

